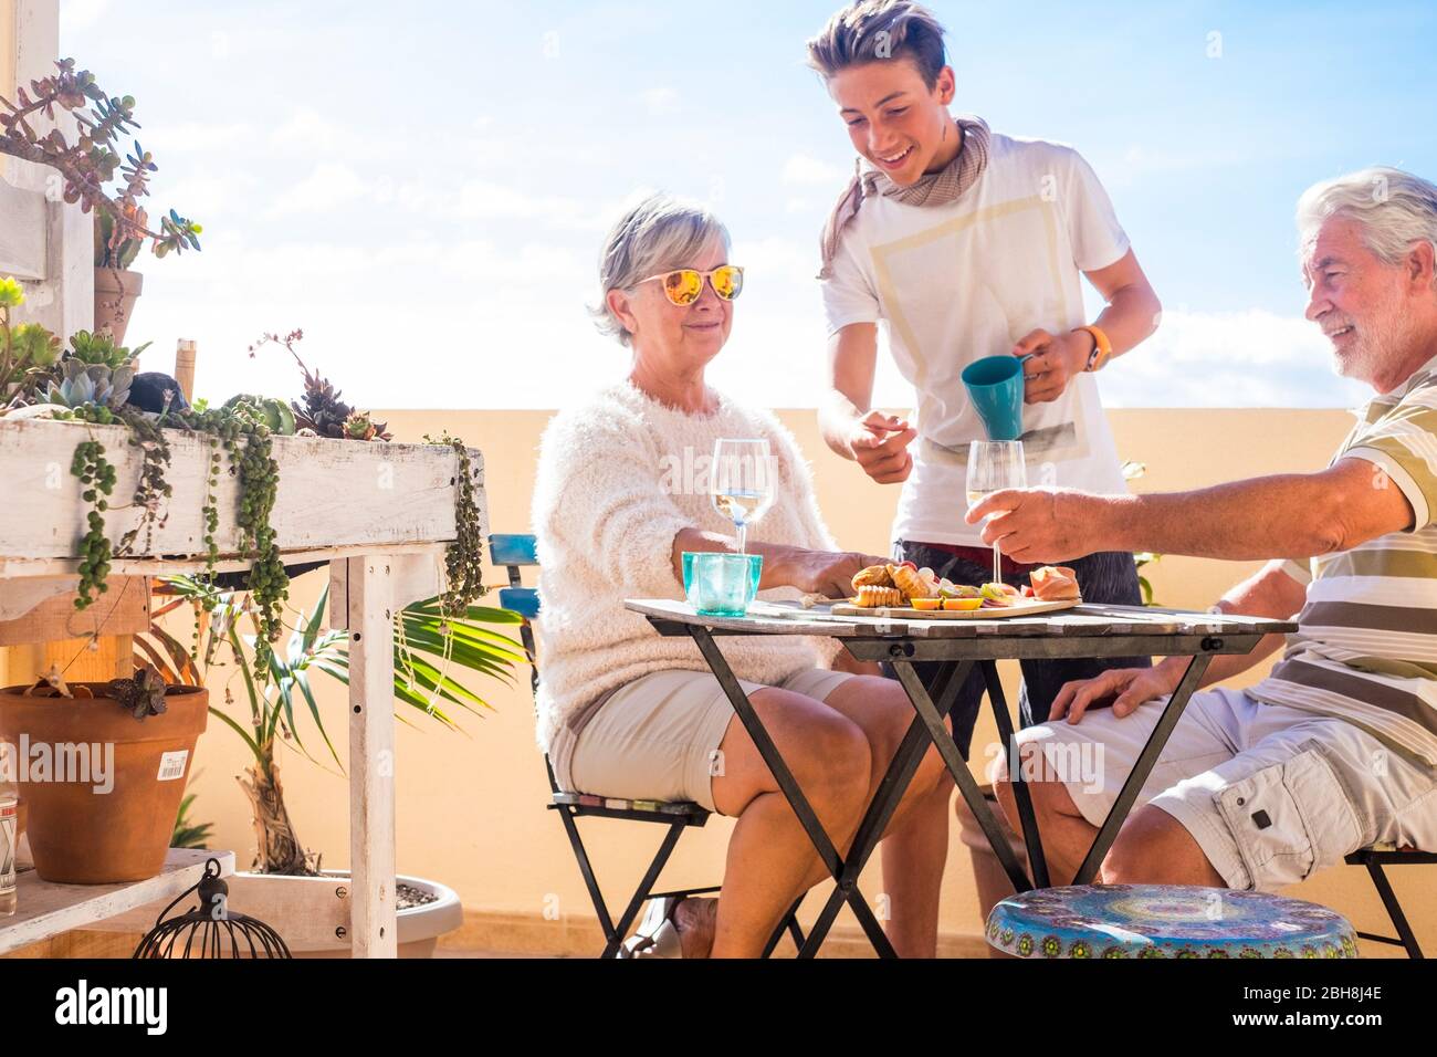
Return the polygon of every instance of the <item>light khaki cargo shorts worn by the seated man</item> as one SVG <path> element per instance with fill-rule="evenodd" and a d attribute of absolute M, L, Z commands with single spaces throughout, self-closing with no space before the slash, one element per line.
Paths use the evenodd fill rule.
<path fill-rule="evenodd" d="M 1049 768 L 1025 779 L 1056 777 L 1102 825 L 1164 705 L 1020 731 Z M 1240 690 L 1188 699 L 1135 805 L 1145 802 L 1181 823 L 1232 889 L 1273 892 L 1377 841 L 1437 850 L 1437 775 L 1352 723 Z"/>

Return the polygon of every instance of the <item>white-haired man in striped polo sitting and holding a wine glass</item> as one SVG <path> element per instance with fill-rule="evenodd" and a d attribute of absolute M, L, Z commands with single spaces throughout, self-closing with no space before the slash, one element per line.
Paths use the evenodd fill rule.
<path fill-rule="evenodd" d="M 1437 186 L 1354 173 L 1309 188 L 1298 224 L 1306 316 L 1336 371 L 1377 393 L 1328 469 L 1171 495 L 1009 490 L 969 512 L 970 523 L 992 515 L 984 541 L 1020 562 L 1118 549 L 1269 558 L 1217 608 L 1298 614 L 1267 679 L 1193 695 L 1105 883 L 1273 890 L 1374 841 L 1437 848 Z M 1279 644 L 1214 659 L 1203 685 Z M 1049 722 L 1019 735 L 1058 883 L 1186 664 L 1068 683 Z M 1101 761 L 1098 774 L 1061 772 L 1078 758 Z M 1006 774 L 999 795 L 1015 820 Z"/>

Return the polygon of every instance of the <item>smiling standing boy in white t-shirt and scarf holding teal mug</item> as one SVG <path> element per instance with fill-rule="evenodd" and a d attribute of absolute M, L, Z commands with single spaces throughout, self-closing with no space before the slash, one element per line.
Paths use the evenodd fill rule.
<path fill-rule="evenodd" d="M 1094 372 L 1151 335 L 1161 306 L 1075 150 L 948 112 L 954 72 L 943 32 L 917 3 L 864 0 L 808 42 L 809 65 L 858 152 L 823 232 L 832 391 L 819 421 L 833 452 L 879 483 L 902 483 L 897 559 L 983 584 L 993 552 L 964 513 L 969 443 L 987 436 L 963 368 L 1032 354 L 1023 365 L 1029 483 L 1125 492 Z M 1091 324 L 1082 276 L 1106 301 Z M 879 322 L 917 391 L 915 423 L 872 410 Z M 1141 604 L 1131 554 L 1091 554 L 1072 567 L 1085 600 Z M 1030 568 L 1004 559 L 1003 578 L 1022 584 Z M 1022 723 L 1046 719 L 1068 680 L 1148 663 L 1023 662 Z M 974 672 L 953 710 L 964 752 L 981 693 Z"/>

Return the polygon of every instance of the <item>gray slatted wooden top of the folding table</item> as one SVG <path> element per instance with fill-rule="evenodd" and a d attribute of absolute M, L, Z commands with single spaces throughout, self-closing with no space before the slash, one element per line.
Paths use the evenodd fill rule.
<path fill-rule="evenodd" d="M 1298 626 L 1267 617 L 1190 613 L 1142 605 L 1092 605 L 1036 617 L 997 620 L 907 620 L 835 617 L 826 604 L 756 601 L 746 617 L 704 617 L 684 601 L 629 598 L 624 605 L 658 623 L 737 634 L 832 636 L 835 639 L 1071 639 L 1096 636 L 1286 634 Z"/>

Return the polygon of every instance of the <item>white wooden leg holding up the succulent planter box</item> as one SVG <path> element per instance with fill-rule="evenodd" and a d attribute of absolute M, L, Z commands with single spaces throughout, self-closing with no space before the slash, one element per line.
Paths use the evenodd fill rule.
<path fill-rule="evenodd" d="M 355 958 L 395 958 L 392 559 L 346 558 L 349 926 Z"/>

